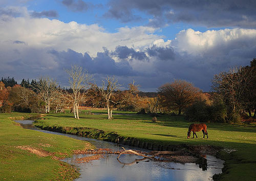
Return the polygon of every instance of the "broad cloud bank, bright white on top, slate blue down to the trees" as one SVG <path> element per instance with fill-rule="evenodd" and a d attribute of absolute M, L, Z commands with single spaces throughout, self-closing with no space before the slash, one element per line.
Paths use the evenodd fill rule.
<path fill-rule="evenodd" d="M 1 76 L 49 75 L 62 86 L 68 85 L 65 70 L 77 64 L 98 83 L 114 75 L 124 87 L 135 79 L 141 90 L 156 91 L 166 82 L 185 79 L 207 91 L 214 74 L 248 65 L 256 52 L 254 29 L 187 29 L 164 41 L 155 28 L 123 27 L 109 33 L 97 24 L 35 18 L 26 8 L 18 16 L 2 13 L 0 24 Z"/>

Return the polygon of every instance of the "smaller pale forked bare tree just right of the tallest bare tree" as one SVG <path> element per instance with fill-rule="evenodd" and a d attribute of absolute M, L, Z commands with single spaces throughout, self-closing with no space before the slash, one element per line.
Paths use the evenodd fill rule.
<path fill-rule="evenodd" d="M 106 85 L 106 86 L 105 86 Z M 113 96 L 115 95 L 115 90 L 119 88 L 121 84 L 118 83 L 118 79 L 115 77 L 107 77 L 106 83 L 104 80 L 102 80 L 102 86 L 96 88 L 99 90 L 101 96 L 104 98 L 106 103 L 106 108 L 108 109 L 108 119 L 113 119 L 112 117 L 112 107 L 111 107 L 111 101 L 113 99 Z"/>

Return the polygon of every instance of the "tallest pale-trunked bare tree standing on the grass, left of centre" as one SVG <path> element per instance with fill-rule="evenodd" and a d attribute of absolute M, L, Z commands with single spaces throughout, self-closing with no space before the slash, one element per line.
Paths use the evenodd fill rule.
<path fill-rule="evenodd" d="M 79 101 L 83 99 L 84 91 L 88 88 L 92 76 L 88 74 L 87 70 L 83 71 L 82 67 L 78 65 L 71 66 L 71 69 L 66 70 L 66 72 L 69 74 L 69 83 L 72 89 L 70 96 L 73 102 L 74 117 L 79 119 Z"/>

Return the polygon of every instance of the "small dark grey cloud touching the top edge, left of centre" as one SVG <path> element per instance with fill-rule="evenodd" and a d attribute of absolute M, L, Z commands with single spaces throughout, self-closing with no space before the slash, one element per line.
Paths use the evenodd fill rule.
<path fill-rule="evenodd" d="M 89 4 L 82 0 L 63 0 L 61 3 L 74 12 L 87 11 L 89 8 Z"/>

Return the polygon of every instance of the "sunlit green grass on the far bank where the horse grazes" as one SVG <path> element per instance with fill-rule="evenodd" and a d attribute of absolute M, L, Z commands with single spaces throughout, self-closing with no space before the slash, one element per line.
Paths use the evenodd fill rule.
<path fill-rule="evenodd" d="M 255 125 L 228 125 L 207 123 L 209 139 L 203 140 L 202 132 L 198 139 L 187 139 L 186 133 L 190 122 L 179 116 L 160 116 L 157 123 L 152 123 L 148 115 L 133 115 L 134 112 L 116 111 L 114 120 L 106 119 L 102 110 L 91 110 L 95 115 L 87 115 L 83 110 L 80 120 L 75 120 L 72 114 L 50 114 L 45 120 L 39 120 L 40 126 L 55 127 L 89 127 L 106 132 L 115 131 L 124 137 L 134 137 L 152 143 L 162 144 L 191 144 L 215 145 L 237 150 L 230 154 L 221 152 L 220 156 L 226 161 L 225 173 L 219 180 L 256 180 L 256 127 Z"/>

